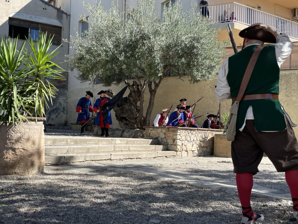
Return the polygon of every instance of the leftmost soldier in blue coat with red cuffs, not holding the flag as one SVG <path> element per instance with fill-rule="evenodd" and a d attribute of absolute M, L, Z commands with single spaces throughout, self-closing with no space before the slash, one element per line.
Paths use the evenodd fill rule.
<path fill-rule="evenodd" d="M 92 103 L 90 100 L 91 97 L 93 97 L 93 93 L 91 93 L 90 91 L 86 91 L 86 96 L 82 97 L 76 106 L 76 112 L 78 112 L 77 123 L 82 122 L 81 134 L 85 134 L 83 124 L 89 120 L 89 112 L 93 111 Z"/>

